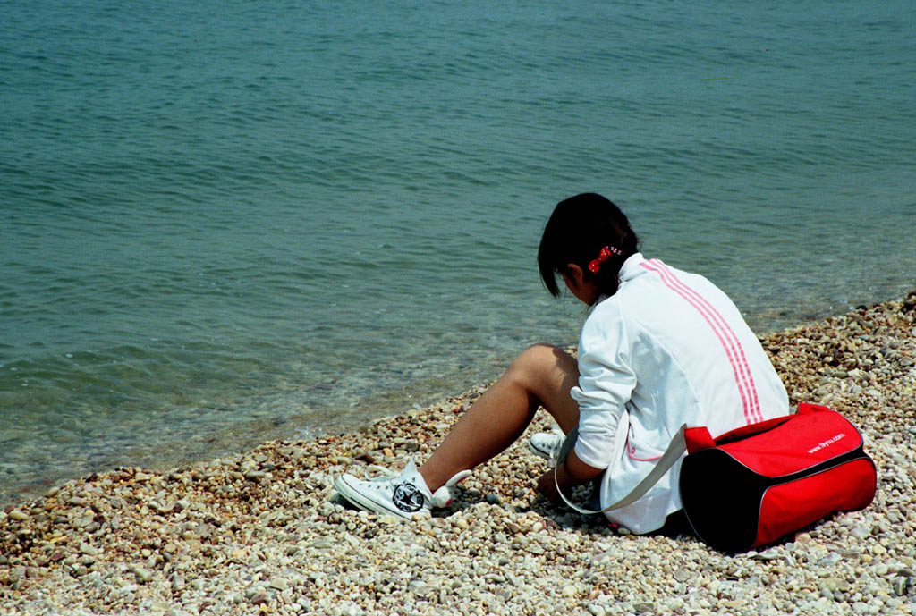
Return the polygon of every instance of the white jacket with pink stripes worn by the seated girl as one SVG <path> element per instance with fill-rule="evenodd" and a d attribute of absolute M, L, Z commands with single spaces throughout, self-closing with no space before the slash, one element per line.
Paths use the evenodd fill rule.
<path fill-rule="evenodd" d="M 789 413 L 785 387 L 725 293 L 642 254 L 627 259 L 616 294 L 585 320 L 579 372 L 575 452 L 606 469 L 602 507 L 649 474 L 682 424 L 715 437 Z M 680 470 L 678 460 L 645 496 L 607 517 L 638 534 L 659 529 L 682 508 Z"/>

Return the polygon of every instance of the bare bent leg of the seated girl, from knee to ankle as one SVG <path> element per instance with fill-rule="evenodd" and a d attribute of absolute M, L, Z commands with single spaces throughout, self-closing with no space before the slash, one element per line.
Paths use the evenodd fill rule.
<path fill-rule="evenodd" d="M 579 406 L 570 395 L 578 381 L 579 367 L 572 355 L 545 344 L 529 347 L 420 467 L 427 487 L 435 492 L 456 472 L 473 469 L 514 443 L 538 406 L 546 408 L 568 434 L 579 424 Z"/>

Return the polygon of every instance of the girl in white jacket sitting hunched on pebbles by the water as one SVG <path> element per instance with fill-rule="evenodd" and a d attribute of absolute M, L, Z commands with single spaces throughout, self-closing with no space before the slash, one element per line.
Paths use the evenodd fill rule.
<path fill-rule="evenodd" d="M 682 424 L 713 434 L 789 413 L 785 388 L 754 333 L 725 294 L 703 276 L 645 259 L 616 205 L 597 194 L 561 201 L 544 229 L 540 276 L 555 297 L 557 276 L 590 313 L 578 361 L 560 349 L 522 352 L 455 423 L 419 469 L 360 480 L 344 474 L 338 492 L 354 505 L 410 518 L 442 506 L 469 470 L 511 445 L 543 406 L 564 433 L 578 427 L 560 460 L 561 489 L 595 481 L 602 507 L 649 474 Z M 529 448 L 549 456 L 559 435 Z M 680 460 L 635 503 L 605 515 L 634 533 L 659 529 L 681 509 Z M 553 470 L 538 490 L 559 500 Z"/>

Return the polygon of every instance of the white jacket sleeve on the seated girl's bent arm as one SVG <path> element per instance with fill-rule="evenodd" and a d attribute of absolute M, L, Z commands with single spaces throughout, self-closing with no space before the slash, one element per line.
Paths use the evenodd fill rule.
<path fill-rule="evenodd" d="M 615 305 L 594 308 L 579 339 L 579 385 L 571 394 L 579 404 L 575 453 L 585 464 L 606 469 L 613 456 L 616 427 L 636 387 L 629 340 Z"/>

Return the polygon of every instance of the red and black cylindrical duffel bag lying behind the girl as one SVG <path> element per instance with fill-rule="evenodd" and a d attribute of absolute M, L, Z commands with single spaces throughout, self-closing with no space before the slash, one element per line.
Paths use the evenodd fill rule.
<path fill-rule="evenodd" d="M 718 438 L 688 427 L 684 441 L 684 513 L 703 542 L 724 552 L 769 544 L 875 497 L 878 476 L 862 435 L 824 406 L 802 404 L 794 415 Z"/>

